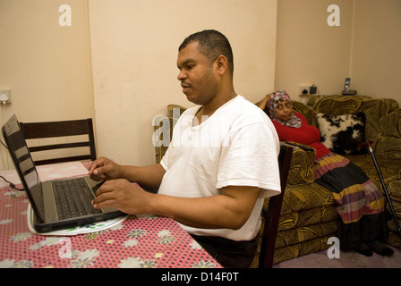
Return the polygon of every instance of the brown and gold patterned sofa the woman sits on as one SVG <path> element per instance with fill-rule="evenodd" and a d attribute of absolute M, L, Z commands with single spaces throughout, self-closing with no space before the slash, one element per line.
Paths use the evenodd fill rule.
<path fill-rule="evenodd" d="M 363 114 L 362 142 L 372 140 L 373 154 L 401 224 L 401 109 L 397 101 L 366 96 L 313 96 L 306 105 L 293 101 L 293 108 L 320 130 L 322 126 L 318 124 L 318 114 Z M 168 105 L 168 109 L 169 114 L 158 117 L 154 122 L 155 130 L 160 130 L 162 125 L 166 127 L 166 124 L 172 128 L 175 119 L 185 108 Z M 160 142 L 163 136 L 166 140 L 171 133 L 155 132 L 157 162 L 160 162 L 167 148 Z M 278 225 L 274 264 L 327 249 L 331 246 L 328 239 L 336 237 L 340 222 L 336 202 L 328 189 L 313 180 L 315 152 L 313 148 L 301 144 L 294 147 Z M 382 189 L 369 152 L 347 152 L 342 155 L 360 166 Z M 401 249 L 401 238 L 392 215 L 388 219 L 388 234 L 388 244 Z"/>

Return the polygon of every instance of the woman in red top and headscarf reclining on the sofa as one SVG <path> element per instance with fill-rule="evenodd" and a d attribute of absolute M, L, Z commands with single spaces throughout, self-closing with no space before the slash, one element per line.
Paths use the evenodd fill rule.
<path fill-rule="evenodd" d="M 353 249 L 365 256 L 371 256 L 372 251 L 383 256 L 393 254 L 393 250 L 382 242 L 388 237 L 385 200 L 366 173 L 320 142 L 320 131 L 311 126 L 303 114 L 293 112 L 285 90 L 273 92 L 257 105 L 269 115 L 281 141 L 293 141 L 316 149 L 315 182 L 329 189 L 337 202 L 337 212 L 342 219 L 337 229 L 341 248 Z"/>

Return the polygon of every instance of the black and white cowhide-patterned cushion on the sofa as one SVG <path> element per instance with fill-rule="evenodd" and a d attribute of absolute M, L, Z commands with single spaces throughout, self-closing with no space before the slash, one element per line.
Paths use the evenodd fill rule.
<path fill-rule="evenodd" d="M 358 145 L 365 142 L 365 115 L 316 114 L 321 142 L 339 155 L 363 154 Z"/>

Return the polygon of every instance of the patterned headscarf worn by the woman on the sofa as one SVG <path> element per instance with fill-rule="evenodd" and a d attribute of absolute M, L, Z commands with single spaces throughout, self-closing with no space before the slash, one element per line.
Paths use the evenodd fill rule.
<path fill-rule="evenodd" d="M 289 127 L 294 127 L 294 128 L 299 128 L 303 125 L 303 122 L 301 122 L 301 119 L 299 119 L 298 116 L 296 116 L 294 113 L 291 114 L 291 118 L 288 121 L 282 121 L 277 117 L 276 114 L 276 107 L 277 105 L 282 102 L 282 101 L 289 101 L 291 102 L 290 97 L 286 93 L 286 90 L 278 90 L 270 94 L 270 99 L 268 100 L 268 103 L 266 105 L 265 112 L 269 115 L 271 120 L 274 120 L 278 123 L 281 123 L 283 125 L 289 126 Z"/>

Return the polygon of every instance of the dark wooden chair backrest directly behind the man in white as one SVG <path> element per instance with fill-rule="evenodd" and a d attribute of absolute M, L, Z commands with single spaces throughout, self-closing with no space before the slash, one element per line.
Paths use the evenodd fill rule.
<path fill-rule="evenodd" d="M 273 266 L 274 249 L 276 246 L 278 218 L 281 212 L 284 192 L 286 190 L 286 179 L 290 170 L 293 147 L 281 144 L 278 155 L 278 166 L 280 169 L 281 193 L 269 198 L 269 206 L 263 207 L 262 216 L 264 226 L 260 243 L 259 268 L 271 268 Z"/>

